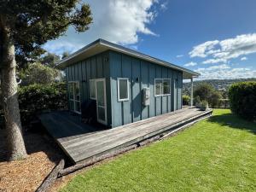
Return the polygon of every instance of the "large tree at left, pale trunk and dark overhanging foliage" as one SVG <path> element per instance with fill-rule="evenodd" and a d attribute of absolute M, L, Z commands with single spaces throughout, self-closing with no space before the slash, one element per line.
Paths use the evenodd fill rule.
<path fill-rule="evenodd" d="M 26 157 L 17 96 L 16 59 L 32 60 L 33 55 L 44 51 L 41 45 L 63 35 L 68 26 L 73 26 L 77 32 L 89 29 L 90 6 L 79 2 L 0 0 L 1 90 L 9 160 Z"/>

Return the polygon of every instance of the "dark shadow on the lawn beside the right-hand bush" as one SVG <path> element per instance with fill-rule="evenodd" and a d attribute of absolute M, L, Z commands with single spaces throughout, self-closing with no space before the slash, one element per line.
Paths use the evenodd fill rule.
<path fill-rule="evenodd" d="M 241 119 L 232 113 L 224 113 L 213 115 L 207 121 L 212 123 L 218 123 L 219 125 L 229 126 L 233 129 L 247 130 L 256 134 L 256 123 Z"/>

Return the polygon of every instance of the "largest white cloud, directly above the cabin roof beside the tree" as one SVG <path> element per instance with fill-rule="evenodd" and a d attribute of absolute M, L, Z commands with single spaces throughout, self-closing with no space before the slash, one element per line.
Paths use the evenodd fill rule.
<path fill-rule="evenodd" d="M 86 32 L 77 33 L 73 27 L 69 27 L 66 36 L 63 36 L 53 44 L 73 44 L 76 49 L 79 46 L 89 44 L 97 38 L 104 38 L 116 44 L 136 44 L 139 41 L 138 34 L 157 36 L 148 28 L 148 24 L 152 23 L 157 15 L 154 6 L 160 2 L 157 0 L 88 0 L 93 15 L 93 23 Z M 51 50 L 55 52 L 54 45 Z M 49 45 L 47 45 L 49 48 Z M 58 48 L 60 46 L 57 46 Z"/>

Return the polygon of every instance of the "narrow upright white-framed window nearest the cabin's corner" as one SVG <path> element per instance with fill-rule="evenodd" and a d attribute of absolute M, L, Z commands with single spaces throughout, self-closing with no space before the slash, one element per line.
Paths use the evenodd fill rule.
<path fill-rule="evenodd" d="M 118 101 L 124 102 L 129 100 L 129 79 L 118 79 Z"/>

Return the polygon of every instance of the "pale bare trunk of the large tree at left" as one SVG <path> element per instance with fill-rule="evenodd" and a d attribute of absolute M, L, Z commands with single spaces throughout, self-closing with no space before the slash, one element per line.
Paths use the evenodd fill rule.
<path fill-rule="evenodd" d="M 7 133 L 7 148 L 9 160 L 26 158 L 26 148 L 22 136 L 20 123 L 20 109 L 17 95 L 17 81 L 15 74 L 15 45 L 8 26 L 1 20 L 1 90 L 3 94 L 3 112 Z"/>

